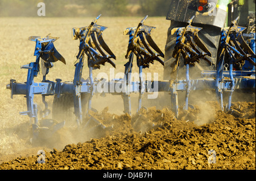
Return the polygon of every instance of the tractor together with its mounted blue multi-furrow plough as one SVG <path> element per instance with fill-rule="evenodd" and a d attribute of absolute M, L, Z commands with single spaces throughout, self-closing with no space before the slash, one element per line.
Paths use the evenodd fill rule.
<path fill-rule="evenodd" d="M 115 68 L 113 60 L 116 57 L 102 36 L 107 27 L 97 24 L 100 17 L 97 16 L 88 26 L 72 29 L 73 40 L 79 40 L 79 51 L 75 75 L 69 82 L 46 79 L 53 62 L 66 62 L 53 45 L 58 37 L 28 38 L 36 44 L 36 61 L 21 66 L 28 69 L 26 82 L 18 83 L 11 79 L 7 89 L 11 90 L 11 98 L 13 95 L 25 95 L 27 111 L 20 114 L 32 120 L 32 142 L 44 134 L 51 137 L 64 125 L 76 125 L 80 130 L 94 127 L 112 129 L 113 125 L 105 125 L 93 116 L 93 112 L 97 112 L 92 108 L 93 96 L 102 94 L 102 91 L 122 96 L 123 112 L 129 115 L 130 94 L 139 93 L 139 114 L 144 108 L 144 93 L 166 92 L 166 99 L 170 100 L 168 106 L 177 118 L 182 108 L 178 92 L 185 94 L 184 110 L 193 108 L 191 102 L 199 100 L 189 99 L 197 91 L 211 92 L 209 98 L 217 98 L 222 111 L 232 111 L 232 98 L 236 92 L 255 95 L 255 0 L 172 0 L 166 17 L 171 20 L 171 25 L 165 52 L 152 39 L 151 32 L 155 27 L 144 24 L 148 18 L 144 16 L 138 26 L 124 30 L 123 34 L 129 36 L 124 76 L 110 81 L 95 79 L 92 74 L 93 70 L 106 63 Z M 164 66 L 164 80 L 143 80 L 143 69 L 150 68 L 155 61 Z M 131 81 L 134 62 L 139 69 L 139 81 Z M 82 78 L 82 70 L 86 66 L 88 79 Z M 34 82 L 40 69 L 42 82 Z M 42 95 L 44 108 L 39 108 L 34 102 L 34 95 Z M 52 110 L 48 108 L 46 96 L 54 96 Z M 52 117 L 48 118 L 50 112 Z"/>

